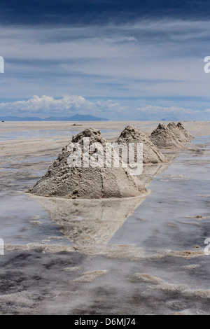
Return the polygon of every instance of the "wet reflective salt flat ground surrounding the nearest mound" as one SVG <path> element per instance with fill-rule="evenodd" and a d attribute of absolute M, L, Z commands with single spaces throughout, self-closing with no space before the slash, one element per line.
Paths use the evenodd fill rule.
<path fill-rule="evenodd" d="M 0 158 L 1 314 L 209 314 L 210 137 L 125 200 L 25 193 L 55 158 Z"/>

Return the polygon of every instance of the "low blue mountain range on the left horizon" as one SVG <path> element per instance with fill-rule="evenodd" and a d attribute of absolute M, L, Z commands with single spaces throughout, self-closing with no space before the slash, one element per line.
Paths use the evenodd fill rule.
<path fill-rule="evenodd" d="M 75 116 L 70 117 L 52 117 L 49 116 L 48 118 L 38 118 L 38 117 L 24 117 L 20 118 L 18 116 L 5 116 L 1 117 L 1 121 L 109 121 L 106 118 L 98 118 L 97 116 L 92 116 L 91 114 L 76 114 Z"/>

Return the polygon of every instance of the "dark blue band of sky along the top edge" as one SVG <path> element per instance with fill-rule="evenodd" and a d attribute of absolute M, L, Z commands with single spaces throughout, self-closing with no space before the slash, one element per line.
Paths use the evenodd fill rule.
<path fill-rule="evenodd" d="M 208 1 L 197 0 L 1 0 L 1 24 L 129 22 L 139 18 L 208 18 Z"/>

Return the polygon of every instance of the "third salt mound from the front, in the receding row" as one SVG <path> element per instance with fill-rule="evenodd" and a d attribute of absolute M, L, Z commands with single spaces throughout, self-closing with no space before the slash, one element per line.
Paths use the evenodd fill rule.
<path fill-rule="evenodd" d="M 174 136 L 172 130 L 167 126 L 160 123 L 158 127 L 153 130 L 151 136 L 151 141 L 155 146 L 160 148 L 181 148 L 183 145 L 180 143 L 179 139 Z"/>

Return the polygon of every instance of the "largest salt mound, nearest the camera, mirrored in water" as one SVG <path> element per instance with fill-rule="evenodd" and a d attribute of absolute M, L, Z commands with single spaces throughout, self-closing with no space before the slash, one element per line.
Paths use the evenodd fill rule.
<path fill-rule="evenodd" d="M 97 143 L 88 152 L 84 141 L 89 138 L 89 146 Z M 92 145 L 93 144 L 93 145 Z M 80 148 L 80 159 L 91 161 L 97 158 L 98 149 L 102 148 L 102 155 L 109 144 L 102 137 L 99 130 L 88 128 L 72 137 L 69 146 L 62 149 L 57 160 L 49 167 L 48 172 L 29 190 L 29 193 L 44 197 L 64 197 L 99 199 L 109 197 L 133 197 L 141 195 L 146 188 L 137 179 L 131 176 L 123 167 L 69 167 L 69 159 L 75 154 L 76 148 Z M 77 146 L 75 146 L 77 145 Z M 69 148 L 71 146 L 71 148 Z M 72 147 L 73 146 L 73 147 Z M 75 146 L 75 147 L 74 147 Z M 76 162 L 78 164 L 78 162 Z M 84 162 L 83 162 L 84 163 Z M 86 162 L 87 163 L 87 162 Z M 89 162 L 88 162 L 89 163 Z M 72 162 L 70 162 L 72 165 Z"/>

